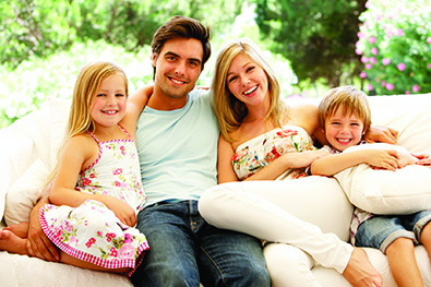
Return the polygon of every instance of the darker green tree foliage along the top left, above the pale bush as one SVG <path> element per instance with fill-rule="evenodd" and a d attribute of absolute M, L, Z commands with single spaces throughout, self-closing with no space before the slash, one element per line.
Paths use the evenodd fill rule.
<path fill-rule="evenodd" d="M 137 51 L 176 14 L 225 31 L 240 13 L 239 0 L 9 0 L 0 3 L 0 64 L 16 68 L 69 49 L 75 41 L 104 39 Z"/>

